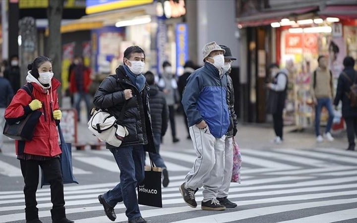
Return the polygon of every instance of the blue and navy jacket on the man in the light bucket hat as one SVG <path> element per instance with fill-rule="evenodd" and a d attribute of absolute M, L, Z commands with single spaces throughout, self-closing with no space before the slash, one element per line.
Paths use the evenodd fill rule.
<path fill-rule="evenodd" d="M 195 70 L 187 79 L 182 95 L 182 105 L 187 115 L 188 126 L 205 120 L 211 134 L 221 138 L 230 125 L 226 101 L 227 76 L 220 77 L 211 63 Z"/>

